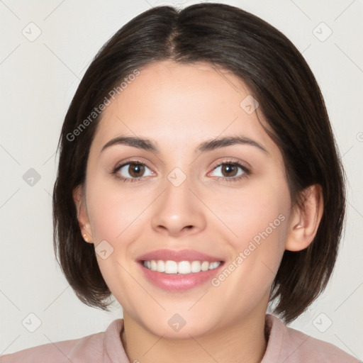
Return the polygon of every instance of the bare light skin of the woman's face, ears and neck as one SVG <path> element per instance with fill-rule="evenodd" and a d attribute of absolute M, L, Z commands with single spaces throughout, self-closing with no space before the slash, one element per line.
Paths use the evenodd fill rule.
<path fill-rule="evenodd" d="M 86 186 L 74 190 L 74 202 L 85 240 L 95 247 L 106 240 L 113 247 L 108 258 L 96 257 L 123 306 L 121 340 L 130 362 L 252 363 L 264 355 L 264 317 L 282 255 L 311 243 L 323 203 L 319 187 L 311 186 L 303 211 L 292 208 L 279 148 L 257 113 L 240 106 L 249 94 L 223 69 L 164 61 L 140 69 L 103 113 Z M 259 119 L 263 122 L 261 112 Z M 127 145 L 101 152 L 120 135 L 150 139 L 160 152 Z M 252 145 L 195 151 L 203 141 L 235 135 L 267 152 Z M 112 170 L 130 158 L 146 167 L 142 178 L 124 182 L 133 165 L 118 171 L 121 179 Z M 223 180 L 243 174 L 240 168 L 228 174 L 225 164 L 218 167 L 230 161 L 241 162 L 250 174 Z M 180 186 L 167 179 L 175 167 L 186 177 Z M 208 281 L 188 291 L 164 291 L 145 279 L 136 262 L 166 248 L 197 250 L 228 265 L 281 215 L 284 221 L 219 286 Z M 186 321 L 178 332 L 168 324 L 175 313 Z"/>

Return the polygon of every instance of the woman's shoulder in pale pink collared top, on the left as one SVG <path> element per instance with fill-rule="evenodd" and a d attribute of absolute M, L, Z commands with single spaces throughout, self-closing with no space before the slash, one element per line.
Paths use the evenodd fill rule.
<path fill-rule="evenodd" d="M 74 340 L 63 340 L 62 342 L 51 342 L 37 347 L 20 350 L 11 354 L 0 356 L 0 363 L 69 363 L 73 362 L 103 362 L 106 340 L 121 330 L 121 319 L 113 320 L 108 325 L 106 332 L 95 333 Z"/>

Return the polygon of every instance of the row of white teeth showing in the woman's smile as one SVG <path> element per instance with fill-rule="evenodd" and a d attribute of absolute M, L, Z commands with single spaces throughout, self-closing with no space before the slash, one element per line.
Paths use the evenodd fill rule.
<path fill-rule="evenodd" d="M 208 271 L 208 269 L 216 269 L 220 265 L 220 261 L 163 261 L 162 259 L 152 259 L 151 261 L 144 261 L 143 265 L 152 271 L 164 272 L 164 274 L 191 274 L 201 271 Z"/>

